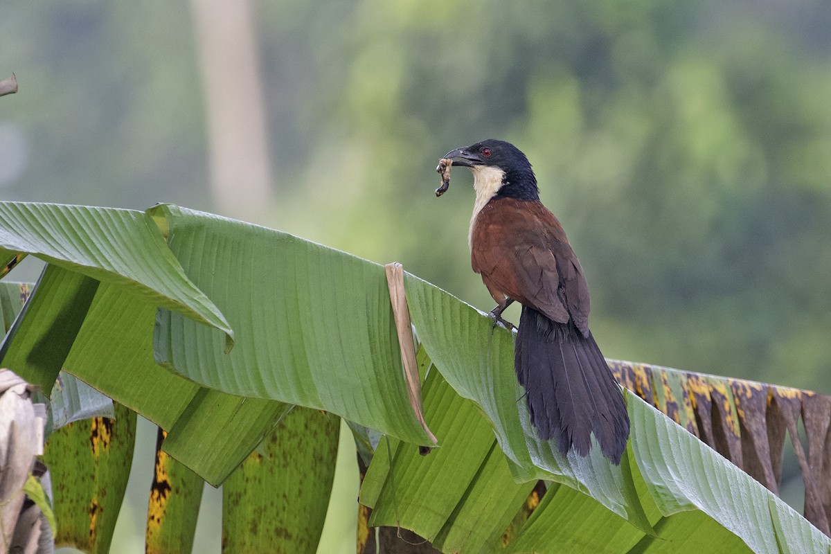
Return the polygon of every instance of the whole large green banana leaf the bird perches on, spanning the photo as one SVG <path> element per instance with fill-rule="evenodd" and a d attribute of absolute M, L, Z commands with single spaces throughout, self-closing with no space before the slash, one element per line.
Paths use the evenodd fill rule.
<path fill-rule="evenodd" d="M 53 302 L 48 306 L 41 302 L 39 309 L 32 302 L 32 309 L 19 320 L 20 327 L 45 336 L 48 329 L 39 329 L 26 319 L 38 321 L 38 311 L 47 316 L 61 313 L 53 305 L 61 302 L 83 305 L 76 302 L 77 287 L 58 286 L 74 282 L 61 272 L 100 279 L 64 368 L 164 429 L 196 433 L 200 428 L 213 429 L 203 431 L 204 441 L 184 440 L 179 435 L 177 457 L 184 463 L 198 465 L 198 458 L 212 452 L 219 440 L 215 429 L 244 430 L 234 448 L 219 453 L 209 468 L 199 470 L 215 472 L 206 478 L 224 478 L 234 461 L 241 461 L 273 429 L 283 409 L 283 404 L 248 400 L 302 404 L 391 436 L 393 458 L 391 463 L 387 457 L 386 469 L 394 469 L 390 483 L 396 484 L 386 484 L 381 449 L 373 462 L 380 468 L 373 471 L 381 473 L 372 478 L 367 475 L 376 490 L 373 494 L 371 485 L 365 484 L 366 502 L 372 502 L 379 512 L 377 522 L 388 521 L 392 512 L 396 521 L 401 518 L 402 525 L 415 527 L 416 532 L 424 512 L 434 510 L 425 535 L 449 550 L 469 540 L 474 541 L 470 544 L 493 544 L 494 537 L 504 531 L 499 527 L 514 519 L 511 510 L 522 503 L 527 483 L 533 486 L 540 478 L 560 484 L 552 485 L 550 497 L 543 497 L 548 508 L 535 511 L 514 532 L 509 547 L 517 552 L 525 552 L 523 541 L 536 545 L 532 531 L 548 533 L 544 517 L 557 517 L 563 510 L 563 517 L 576 517 L 576 511 L 583 510 L 600 514 L 597 521 L 607 522 L 596 527 L 567 525 L 560 531 L 574 532 L 571 538 L 561 535 L 558 540 L 563 543 L 592 532 L 593 539 L 615 548 L 630 548 L 634 541 L 633 551 L 653 552 L 668 549 L 670 540 L 687 548 L 714 535 L 722 537 L 719 544 L 738 539 L 754 552 L 829 550 L 828 538 L 799 514 L 634 395 L 627 394 L 632 440 L 619 467 L 602 458 L 598 449 L 587 458 L 563 457 L 556 446 L 538 441 L 524 403 L 516 400 L 521 391 L 513 373 L 512 336 L 494 330 L 489 319 L 470 306 L 409 275 L 406 292 L 412 320 L 437 372 L 432 378 L 428 375 L 430 394 L 445 390 L 441 398 L 467 399 L 467 409 L 450 400 L 435 402 L 449 403 L 450 411 L 445 409 L 449 414 L 478 415 L 482 423 L 475 425 L 479 431 L 474 436 L 460 438 L 452 432 L 454 421 L 427 414 L 427 424 L 446 429 L 436 435 L 443 449 L 458 454 L 458 459 L 430 462 L 442 460 L 435 454 L 443 449 L 419 457 L 422 463 L 436 464 L 430 475 L 440 476 L 443 488 L 415 486 L 420 504 L 411 507 L 405 518 L 402 513 L 409 497 L 397 488 L 407 482 L 396 481 L 394 475 L 420 475 L 420 468 L 399 465 L 406 462 L 401 456 L 417 456 L 415 445 L 430 441 L 406 397 L 383 267 L 285 233 L 174 206 L 151 208 L 141 216 L 104 208 L 8 206 L 0 203 L 12 213 L 38 217 L 16 218 L 11 224 L 0 221 L 0 248 L 31 252 L 60 268 L 49 282 L 55 289 L 47 288 Z M 161 233 L 136 233 L 125 224 L 99 224 L 111 220 L 153 222 L 156 227 L 148 229 Z M 12 230 L 7 228 L 10 225 Z M 101 238 L 105 246 L 99 248 L 97 237 L 105 228 L 106 238 Z M 51 238 L 51 234 L 59 236 Z M 37 240 L 30 240 L 32 236 Z M 78 237 L 84 238 L 80 246 Z M 141 244 L 135 244 L 137 240 Z M 192 306 L 186 294 L 173 302 L 170 295 L 154 288 L 164 288 L 159 283 L 148 285 L 150 279 L 139 282 L 118 273 L 136 271 L 132 265 L 140 260 L 125 254 L 130 248 L 155 252 L 168 246 L 170 254 L 161 255 L 170 262 L 165 271 L 173 276 L 180 264 L 182 273 L 176 278 L 193 287 L 198 302 Z M 105 252 L 106 262 L 99 252 Z M 204 316 L 194 316 L 194 306 L 201 306 Z M 217 314 L 229 325 L 218 323 Z M 57 321 L 44 319 L 47 327 Z M 228 352 L 230 327 L 236 341 L 234 350 Z M 7 348 L 14 352 L 14 341 L 23 339 L 10 335 Z M 21 344 L 37 351 L 42 341 Z M 14 359 L 28 359 L 24 350 Z M 430 394 L 425 405 L 434 402 Z M 253 409 L 234 419 L 248 404 L 254 404 Z M 222 409 L 210 409 L 212 405 Z M 212 414 L 219 414 L 219 419 Z M 401 443 L 394 444 L 396 439 Z M 466 442 L 464 449 L 455 444 L 473 439 L 483 442 Z M 458 482 L 450 486 L 447 480 L 456 477 Z M 497 489 L 491 488 L 494 479 Z M 503 493 L 494 497 L 494 490 Z M 441 501 L 439 507 L 432 505 L 434 494 Z M 509 507 L 483 518 L 475 505 L 465 506 L 465 498 L 485 504 L 498 504 L 501 498 Z M 484 530 L 486 536 L 479 537 L 475 529 L 485 527 L 483 521 L 492 526 Z"/>

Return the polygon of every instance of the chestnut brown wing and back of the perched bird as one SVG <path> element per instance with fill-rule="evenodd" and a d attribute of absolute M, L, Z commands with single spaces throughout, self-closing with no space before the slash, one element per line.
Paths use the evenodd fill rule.
<path fill-rule="evenodd" d="M 471 262 L 491 294 L 502 292 L 559 323 L 571 319 L 588 336 L 583 268 L 563 227 L 543 204 L 491 200 L 474 222 Z"/>

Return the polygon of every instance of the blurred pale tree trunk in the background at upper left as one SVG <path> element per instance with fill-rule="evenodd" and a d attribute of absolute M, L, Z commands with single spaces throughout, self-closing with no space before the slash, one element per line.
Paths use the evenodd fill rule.
<path fill-rule="evenodd" d="M 263 80 L 250 0 L 192 0 L 214 203 L 256 219 L 271 199 Z"/>

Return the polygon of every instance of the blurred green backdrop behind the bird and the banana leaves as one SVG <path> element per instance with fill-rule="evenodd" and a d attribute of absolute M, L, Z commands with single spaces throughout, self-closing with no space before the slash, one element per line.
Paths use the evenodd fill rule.
<path fill-rule="evenodd" d="M 472 179 L 435 199 L 434 168 L 510 140 L 607 356 L 831 393 L 829 22 L 821 0 L 6 2 L 0 198 L 180 203 L 489 310 Z M 321 552 L 354 552 L 350 487 Z"/>

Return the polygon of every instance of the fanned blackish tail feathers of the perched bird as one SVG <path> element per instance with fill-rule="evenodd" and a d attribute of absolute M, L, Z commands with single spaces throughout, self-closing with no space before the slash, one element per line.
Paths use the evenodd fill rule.
<path fill-rule="evenodd" d="M 514 369 L 540 439 L 554 437 L 563 454 L 574 449 L 585 456 L 594 433 L 603 455 L 620 463 L 629 415 L 591 333 L 523 306 Z"/>

